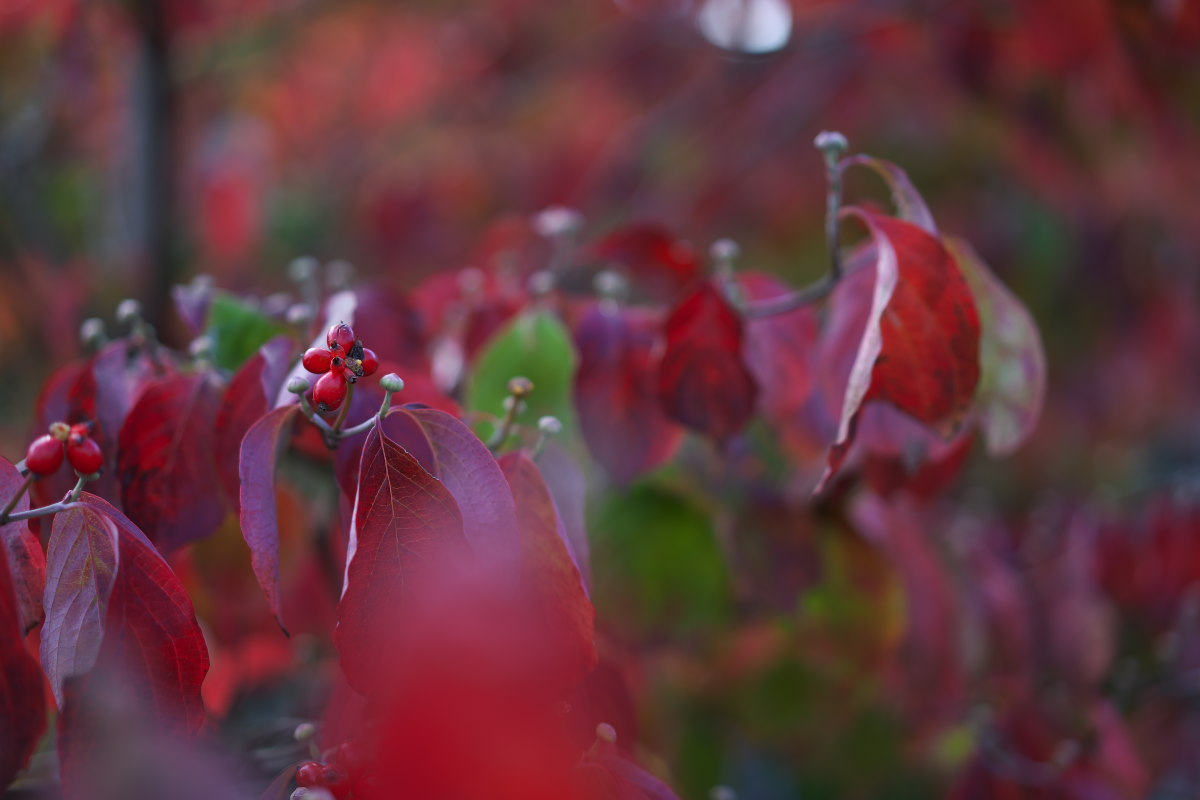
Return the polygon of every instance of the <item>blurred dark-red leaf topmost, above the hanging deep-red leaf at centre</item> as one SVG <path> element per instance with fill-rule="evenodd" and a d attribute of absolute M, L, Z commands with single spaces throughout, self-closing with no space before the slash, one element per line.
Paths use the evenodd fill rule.
<path fill-rule="evenodd" d="M 624 266 L 634 285 L 660 302 L 673 301 L 700 277 L 695 248 L 650 222 L 618 228 L 593 245 L 590 255 Z"/>

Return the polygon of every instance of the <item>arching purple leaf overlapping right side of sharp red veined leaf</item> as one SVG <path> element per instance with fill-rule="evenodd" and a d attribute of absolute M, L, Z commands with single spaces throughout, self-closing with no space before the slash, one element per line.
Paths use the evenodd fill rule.
<path fill-rule="evenodd" d="M 401 408 L 396 414 L 407 414 L 425 433 L 433 456 L 428 471 L 457 501 L 467 542 L 484 558 L 511 555 L 521 541 L 517 509 L 505 473 L 487 445 L 445 411 Z"/>

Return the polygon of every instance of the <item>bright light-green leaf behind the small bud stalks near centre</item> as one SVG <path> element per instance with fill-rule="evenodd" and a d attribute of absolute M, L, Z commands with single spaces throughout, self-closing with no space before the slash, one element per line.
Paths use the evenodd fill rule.
<path fill-rule="evenodd" d="M 563 431 L 576 432 L 571 386 L 578 357 L 571 335 L 551 313 L 523 312 L 500 329 L 475 360 L 467 385 L 467 408 L 502 416 L 509 380 L 523 375 L 533 393 L 517 423 L 536 429 L 542 416 L 557 416 Z"/>

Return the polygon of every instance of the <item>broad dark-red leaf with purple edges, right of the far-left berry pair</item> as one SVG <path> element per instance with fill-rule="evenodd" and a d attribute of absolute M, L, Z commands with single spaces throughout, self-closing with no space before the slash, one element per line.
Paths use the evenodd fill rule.
<path fill-rule="evenodd" d="M 164 553 L 224 519 L 212 480 L 220 393 L 206 373 L 150 381 L 121 428 L 118 475 L 130 518 Z"/>

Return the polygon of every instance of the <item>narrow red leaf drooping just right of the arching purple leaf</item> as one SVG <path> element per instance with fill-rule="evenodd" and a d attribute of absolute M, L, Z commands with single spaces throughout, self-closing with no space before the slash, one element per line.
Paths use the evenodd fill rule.
<path fill-rule="evenodd" d="M 559 534 L 554 499 L 538 467 L 523 452 L 505 455 L 500 467 L 521 523 L 522 578 L 533 607 L 545 616 L 542 630 L 558 662 L 550 667 L 554 678 L 570 686 L 596 664 L 595 608 Z"/>

